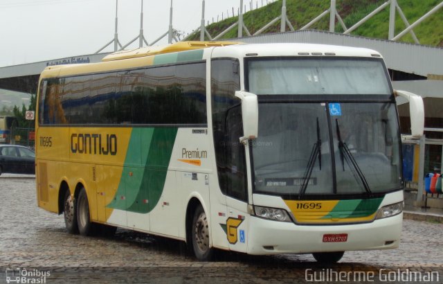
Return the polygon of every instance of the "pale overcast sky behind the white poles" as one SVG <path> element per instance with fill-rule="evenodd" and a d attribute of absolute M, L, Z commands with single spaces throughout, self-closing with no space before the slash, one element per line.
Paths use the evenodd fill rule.
<path fill-rule="evenodd" d="M 140 33 L 142 0 L 118 0 L 118 39 Z M 246 10 L 273 0 L 244 0 Z M 169 28 L 170 0 L 143 0 L 148 43 Z M 173 28 L 187 35 L 200 26 L 202 0 L 172 0 Z M 205 18 L 237 14 L 240 0 L 206 0 Z M 96 53 L 114 39 L 116 0 L 0 0 L 0 67 Z M 215 36 L 215 35 L 213 35 Z M 159 44 L 167 44 L 165 37 Z M 157 44 L 158 45 L 158 44 Z M 138 40 L 128 48 L 137 48 Z M 114 45 L 105 51 L 114 51 Z"/>

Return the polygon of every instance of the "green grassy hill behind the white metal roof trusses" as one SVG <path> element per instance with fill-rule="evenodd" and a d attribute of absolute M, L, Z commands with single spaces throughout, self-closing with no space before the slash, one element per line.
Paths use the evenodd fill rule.
<path fill-rule="evenodd" d="M 422 17 L 429 10 L 435 7 L 441 0 L 397 0 L 401 10 L 403 10 L 409 24 Z M 337 0 L 336 8 L 338 14 L 342 17 L 347 28 L 350 28 L 360 19 L 363 19 L 372 10 L 381 6 L 385 0 Z M 309 21 L 320 15 L 321 12 L 329 8 L 329 0 L 287 0 L 287 17 L 294 29 L 299 29 L 305 26 Z M 275 1 L 274 3 L 252 10 L 244 14 L 244 24 L 251 34 L 260 30 L 265 24 L 269 23 L 281 14 L 282 1 Z M 228 28 L 238 20 L 238 17 L 230 17 L 214 24 L 206 26 L 208 32 L 212 37 L 215 37 L 221 31 Z M 389 27 L 389 6 L 379 12 L 377 15 L 365 22 L 359 28 L 354 30 L 352 35 L 361 35 L 364 37 L 374 37 L 379 39 L 388 39 Z M 329 30 L 329 14 L 316 22 L 311 29 Z M 395 20 L 395 35 L 404 30 L 406 26 L 401 20 L 398 12 Z M 289 28 L 287 28 L 289 30 Z M 343 33 L 343 28 L 336 21 L 337 33 Z M 269 27 L 264 33 L 279 33 L 280 21 Z M 443 8 L 435 12 L 431 17 L 426 19 L 414 28 L 415 35 L 419 39 L 420 44 L 430 46 L 443 46 Z M 244 33 L 246 35 L 246 33 Z M 230 30 L 223 39 L 230 39 L 237 37 L 237 27 Z M 199 33 L 194 33 L 188 36 L 188 40 L 199 40 Z M 407 34 L 400 42 L 414 42 L 413 38 Z"/>

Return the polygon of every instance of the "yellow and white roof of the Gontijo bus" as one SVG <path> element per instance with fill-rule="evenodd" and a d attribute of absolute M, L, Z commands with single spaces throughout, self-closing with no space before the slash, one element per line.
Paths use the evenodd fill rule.
<path fill-rule="evenodd" d="M 143 68 L 156 64 L 201 60 L 204 48 L 214 48 L 211 57 L 254 57 L 254 56 L 345 56 L 381 57 L 380 53 L 368 48 L 332 46 L 323 44 L 242 44 L 241 42 L 177 42 L 168 46 L 137 48 L 119 51 L 103 58 L 102 62 L 90 64 L 66 64 L 48 66 L 40 78 L 80 76 L 125 69 Z M 200 52 L 199 52 L 200 50 Z M 194 55 L 190 53 L 195 53 Z M 198 54 L 197 54 L 198 53 Z M 157 58 L 158 57 L 158 58 Z M 163 57 L 163 58 L 162 58 Z M 198 58 L 197 58 L 198 57 Z M 159 59 L 159 60 L 157 60 Z M 166 59 L 166 61 L 164 61 Z M 169 61 L 168 61 L 169 60 Z M 178 61 L 174 61 L 178 60 Z"/>

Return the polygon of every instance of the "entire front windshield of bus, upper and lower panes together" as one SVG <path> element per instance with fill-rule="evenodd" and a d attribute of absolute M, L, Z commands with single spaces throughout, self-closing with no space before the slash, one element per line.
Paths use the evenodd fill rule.
<path fill-rule="evenodd" d="M 312 195 L 377 194 L 401 188 L 395 103 L 388 99 L 370 100 L 370 96 L 365 102 L 352 99 L 336 103 L 334 96 L 321 96 L 388 95 L 390 87 L 383 65 L 368 60 L 300 61 L 304 71 L 294 68 L 296 60 L 282 60 L 282 68 L 288 66 L 287 71 L 275 69 L 278 62 L 272 60 L 249 62 L 249 91 L 259 94 L 258 137 L 252 143 L 255 192 L 308 198 Z M 270 64 L 271 70 L 267 69 L 265 62 Z M 330 70 L 307 68 L 308 62 L 318 66 L 327 62 Z M 255 69 L 262 63 L 264 70 Z M 292 69 L 289 69 L 289 64 L 293 64 Z M 332 68 L 343 64 L 356 67 L 350 70 Z M 368 69 L 363 68 L 364 64 L 368 64 Z M 311 78 L 317 78 L 311 85 L 299 82 L 301 74 L 307 70 L 313 76 Z M 277 89 L 280 88 L 271 92 L 275 96 L 260 96 L 270 93 L 254 89 L 251 72 L 257 75 L 273 71 L 279 73 L 278 76 L 291 74 L 291 79 L 282 79 L 282 82 L 287 82 L 285 86 L 273 81 L 279 86 Z M 367 80 L 363 80 L 365 76 Z M 325 78 L 334 78 L 336 84 L 331 81 L 332 85 L 328 82 L 314 86 L 315 80 L 323 82 Z M 257 81 L 257 84 L 262 82 Z M 314 89 L 319 93 L 315 93 Z M 285 94 L 320 96 L 318 101 L 309 101 Z"/>

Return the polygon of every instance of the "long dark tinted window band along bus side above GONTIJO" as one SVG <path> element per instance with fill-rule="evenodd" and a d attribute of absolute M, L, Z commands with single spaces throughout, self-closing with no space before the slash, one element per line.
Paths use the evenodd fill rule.
<path fill-rule="evenodd" d="M 40 123 L 206 124 L 206 63 L 42 82 Z"/>

